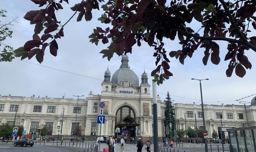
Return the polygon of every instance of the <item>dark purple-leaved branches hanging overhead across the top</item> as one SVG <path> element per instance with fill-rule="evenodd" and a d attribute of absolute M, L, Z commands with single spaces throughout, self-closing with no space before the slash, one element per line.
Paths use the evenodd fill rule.
<path fill-rule="evenodd" d="M 31 10 L 24 16 L 34 24 L 35 29 L 33 40 L 16 50 L 16 53 L 22 52 L 18 55 L 22 59 L 36 55 L 41 63 L 48 46 L 50 53 L 56 56 L 57 39 L 64 36 L 64 26 L 69 20 L 77 16 L 78 22 L 83 18 L 90 21 L 92 10 L 100 10 L 101 3 L 103 14 L 98 20 L 102 24 L 109 24 L 109 27 L 96 27 L 89 36 L 90 42 L 96 45 L 99 41 L 110 43 L 100 52 L 108 60 L 114 54 L 120 56 L 132 53 L 134 45 L 141 46 L 142 42 L 146 42 L 144 45 L 148 44 L 155 50 L 152 55 L 156 59 L 156 69 L 151 76 L 154 76 L 158 84 L 173 75 L 170 58 L 175 57 L 184 64 L 187 57 L 192 58 L 195 50 L 204 50 L 204 65 L 208 60 L 219 64 L 220 41 L 227 42 L 224 60 L 230 60 L 226 70 L 228 77 L 234 69 L 237 76 L 243 77 L 245 69 L 252 68 L 245 51 L 256 52 L 256 36 L 248 36 L 249 32 L 256 30 L 255 0 L 239 0 L 234 3 L 225 0 L 172 0 L 170 3 L 166 0 L 82 0 L 71 7 L 74 14 L 63 25 L 57 20 L 55 12 L 63 9 L 62 3 L 68 3 L 68 0 L 31 1 L 44 8 Z M 190 27 L 192 21 L 198 23 L 198 29 Z M 178 40 L 180 49 L 166 50 L 164 39 Z"/>

